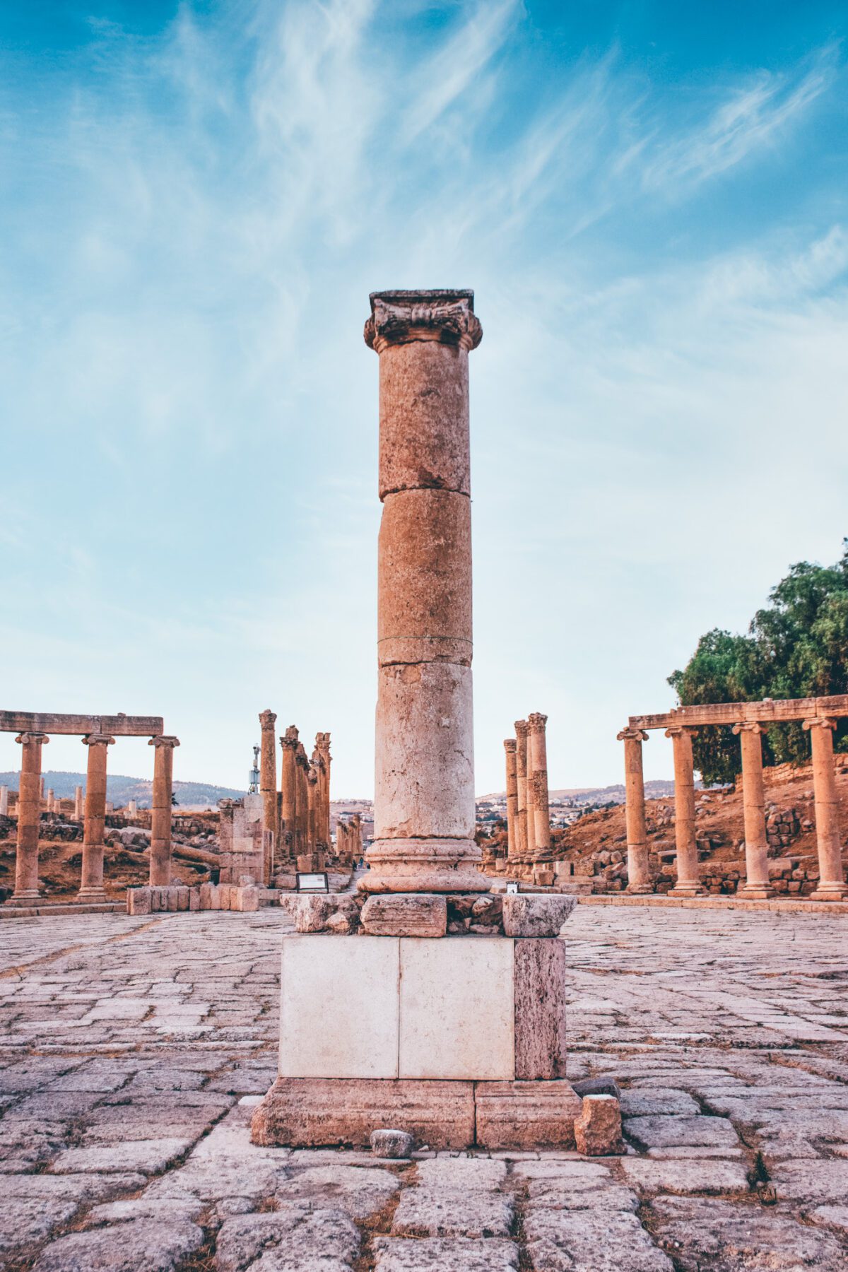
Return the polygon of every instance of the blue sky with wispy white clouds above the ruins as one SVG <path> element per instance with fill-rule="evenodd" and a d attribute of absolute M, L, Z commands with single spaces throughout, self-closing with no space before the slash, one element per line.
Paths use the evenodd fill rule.
<path fill-rule="evenodd" d="M 8 0 L 3 706 L 161 714 L 175 776 L 231 785 L 271 706 L 370 794 L 367 293 L 473 286 L 478 790 L 534 710 L 554 786 L 618 781 L 698 636 L 840 552 L 845 25 Z"/>

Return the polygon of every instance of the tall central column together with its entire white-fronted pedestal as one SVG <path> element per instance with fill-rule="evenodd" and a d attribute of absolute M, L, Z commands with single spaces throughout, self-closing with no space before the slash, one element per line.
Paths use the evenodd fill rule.
<path fill-rule="evenodd" d="M 558 939 L 575 898 L 491 894 L 474 841 L 468 354 L 481 336 L 470 291 L 371 296 L 375 840 L 357 894 L 300 898 L 284 937 L 280 1076 L 253 1114 L 257 1144 L 364 1146 L 397 1127 L 434 1149 L 575 1145 Z M 520 730 L 528 855 L 549 837 L 544 725 L 531 715 Z"/>

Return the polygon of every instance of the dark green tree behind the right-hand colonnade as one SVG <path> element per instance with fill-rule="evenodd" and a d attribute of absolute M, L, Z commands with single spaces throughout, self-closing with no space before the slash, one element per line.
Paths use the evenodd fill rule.
<path fill-rule="evenodd" d="M 748 635 L 716 627 L 701 637 L 683 670 L 669 677 L 681 706 L 848 693 L 848 539 L 833 566 L 791 566 L 768 599 Z M 838 722 L 834 744 L 848 750 L 848 720 Z M 732 781 L 740 771 L 739 739 L 727 726 L 701 729 L 693 754 L 709 785 Z M 802 763 L 809 754 L 800 722 L 763 735 L 767 764 Z"/>

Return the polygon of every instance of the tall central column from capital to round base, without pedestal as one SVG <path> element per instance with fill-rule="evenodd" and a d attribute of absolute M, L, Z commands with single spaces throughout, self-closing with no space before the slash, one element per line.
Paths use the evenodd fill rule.
<path fill-rule="evenodd" d="M 486 892 L 474 842 L 472 291 L 371 295 L 380 359 L 375 840 L 364 892 Z"/>

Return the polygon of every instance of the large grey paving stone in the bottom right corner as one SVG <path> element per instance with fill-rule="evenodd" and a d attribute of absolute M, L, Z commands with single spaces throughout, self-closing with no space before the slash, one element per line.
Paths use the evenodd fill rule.
<path fill-rule="evenodd" d="M 680 1272 L 844 1272 L 848 1266 L 837 1238 L 772 1206 L 657 1197 L 651 1210 Z"/>

